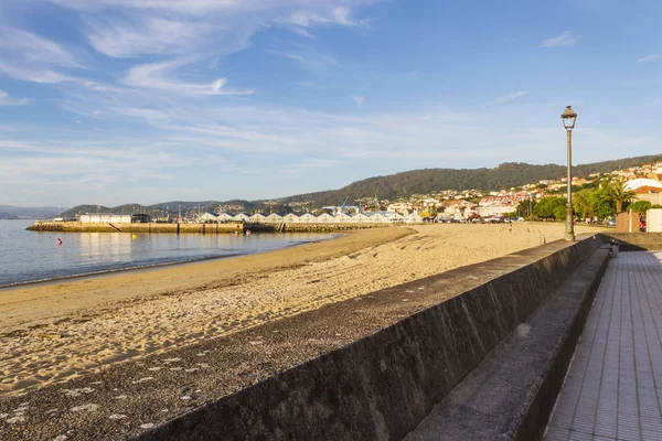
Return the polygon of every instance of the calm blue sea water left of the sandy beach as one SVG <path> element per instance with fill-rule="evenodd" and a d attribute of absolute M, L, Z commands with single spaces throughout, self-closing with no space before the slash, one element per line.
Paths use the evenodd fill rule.
<path fill-rule="evenodd" d="M 0 287 L 130 268 L 248 255 L 318 241 L 328 234 L 131 234 L 28 232 L 0 219 Z M 57 245 L 57 238 L 62 245 Z"/>

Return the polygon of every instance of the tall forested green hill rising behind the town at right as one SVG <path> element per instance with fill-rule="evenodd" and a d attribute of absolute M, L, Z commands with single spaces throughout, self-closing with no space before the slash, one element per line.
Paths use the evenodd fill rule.
<path fill-rule="evenodd" d="M 574 168 L 573 175 L 586 178 L 591 173 L 608 173 L 658 160 L 662 160 L 662 154 L 580 164 Z M 338 205 L 345 197 L 353 201 L 359 197 L 376 195 L 380 200 L 393 200 L 440 190 L 492 191 L 531 184 L 541 180 L 558 180 L 565 174 L 564 165 L 532 165 L 521 162 L 506 162 L 494 169 L 424 169 L 369 178 L 353 182 L 340 190 L 300 194 L 286 197 L 282 202 L 312 200 L 314 205 L 320 206 Z"/>

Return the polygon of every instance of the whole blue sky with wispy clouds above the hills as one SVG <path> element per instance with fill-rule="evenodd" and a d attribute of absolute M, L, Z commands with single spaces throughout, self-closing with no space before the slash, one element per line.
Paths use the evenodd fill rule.
<path fill-rule="evenodd" d="M 662 153 L 662 2 L 0 0 L 0 205 Z"/>

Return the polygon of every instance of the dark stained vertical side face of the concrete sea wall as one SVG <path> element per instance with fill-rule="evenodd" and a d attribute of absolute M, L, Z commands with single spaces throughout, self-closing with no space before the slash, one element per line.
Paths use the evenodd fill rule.
<path fill-rule="evenodd" d="M 138 439 L 403 439 L 602 241 L 562 248 Z"/>

